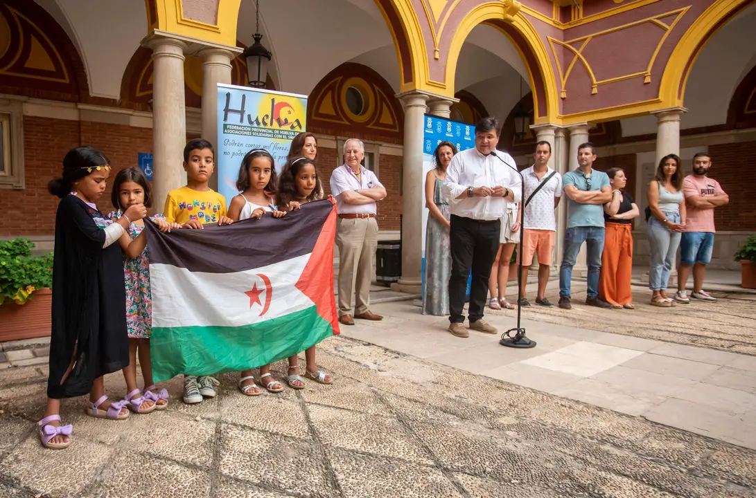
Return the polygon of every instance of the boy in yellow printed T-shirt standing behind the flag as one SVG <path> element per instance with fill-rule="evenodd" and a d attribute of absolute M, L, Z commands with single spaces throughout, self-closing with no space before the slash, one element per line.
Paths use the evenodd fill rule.
<path fill-rule="evenodd" d="M 184 170 L 187 185 L 172 190 L 166 198 L 163 214 L 169 223 L 181 223 L 184 228 L 201 229 L 203 224 L 230 225 L 226 216 L 226 199 L 208 186 L 215 167 L 212 143 L 197 138 L 184 147 Z M 213 377 L 184 375 L 184 403 L 200 403 L 203 397 L 215 398 L 218 380 Z"/>

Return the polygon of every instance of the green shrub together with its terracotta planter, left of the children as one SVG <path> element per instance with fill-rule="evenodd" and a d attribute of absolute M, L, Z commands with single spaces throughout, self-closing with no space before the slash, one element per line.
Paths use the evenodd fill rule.
<path fill-rule="evenodd" d="M 0 341 L 50 335 L 53 255 L 33 248 L 28 238 L 0 242 Z"/>

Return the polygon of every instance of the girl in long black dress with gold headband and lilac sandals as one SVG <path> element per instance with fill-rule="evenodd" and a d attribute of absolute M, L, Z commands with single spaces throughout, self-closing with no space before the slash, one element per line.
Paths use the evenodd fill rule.
<path fill-rule="evenodd" d="M 51 449 L 71 442 L 71 426 L 60 425 L 61 398 L 88 393 L 91 417 L 129 417 L 127 401 L 108 401 L 103 386 L 105 374 L 129 364 L 123 253 L 114 243 L 147 210 L 138 204 L 116 223 L 105 220 L 95 201 L 105 192 L 109 162 L 91 147 L 77 147 L 63 160 L 63 177 L 48 185 L 61 200 L 55 216 L 48 403 L 37 429 L 42 445 Z"/>

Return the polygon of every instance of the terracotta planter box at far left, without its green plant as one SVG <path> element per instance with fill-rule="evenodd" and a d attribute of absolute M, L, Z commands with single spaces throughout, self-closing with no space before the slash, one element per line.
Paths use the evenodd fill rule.
<path fill-rule="evenodd" d="M 48 337 L 51 329 L 51 289 L 35 291 L 31 300 L 21 306 L 5 303 L 0 306 L 0 342 Z"/>

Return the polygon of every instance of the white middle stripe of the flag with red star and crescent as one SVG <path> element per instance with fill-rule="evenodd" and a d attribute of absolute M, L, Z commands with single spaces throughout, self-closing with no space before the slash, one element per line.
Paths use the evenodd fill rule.
<path fill-rule="evenodd" d="M 190 272 L 177 266 L 150 264 L 152 326 L 240 327 L 314 306 L 295 287 L 309 259 L 310 254 L 305 254 L 235 273 Z M 271 282 L 270 297 L 260 275 Z M 260 303 L 252 303 L 245 294 L 255 286 L 261 291 Z M 266 300 L 270 300 L 270 307 L 260 316 Z"/>

